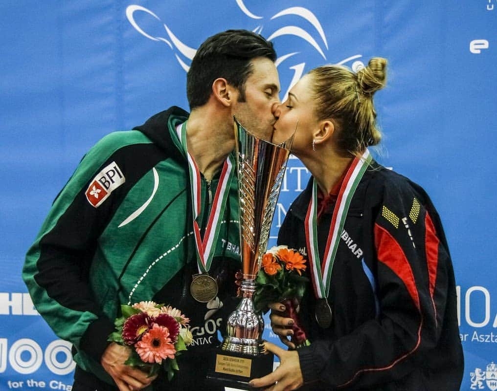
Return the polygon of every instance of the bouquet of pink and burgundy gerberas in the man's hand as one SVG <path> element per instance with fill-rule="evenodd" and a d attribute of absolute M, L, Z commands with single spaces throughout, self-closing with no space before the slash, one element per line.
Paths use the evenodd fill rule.
<path fill-rule="evenodd" d="M 162 366 L 171 380 L 179 370 L 176 357 L 193 340 L 190 319 L 175 308 L 154 302 L 122 305 L 121 313 L 108 340 L 132 348 L 125 364 L 148 371 L 149 376 Z"/>

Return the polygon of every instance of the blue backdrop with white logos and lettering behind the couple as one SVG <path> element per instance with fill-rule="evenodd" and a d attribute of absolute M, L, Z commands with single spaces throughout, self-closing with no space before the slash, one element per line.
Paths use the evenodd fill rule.
<path fill-rule="evenodd" d="M 229 28 L 274 42 L 281 98 L 318 65 L 389 60 L 376 156 L 437 207 L 458 285 L 461 389 L 495 390 L 497 0 L 17 0 L 0 3 L 0 25 L 0 390 L 71 390 L 70 347 L 33 309 L 24 254 L 89 147 L 187 108 L 195 49 Z M 290 160 L 271 235 L 308 178 Z"/>

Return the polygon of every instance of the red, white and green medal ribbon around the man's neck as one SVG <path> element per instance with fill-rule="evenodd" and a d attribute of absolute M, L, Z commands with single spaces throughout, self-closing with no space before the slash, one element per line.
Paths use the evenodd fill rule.
<path fill-rule="evenodd" d="M 216 194 L 212 202 L 209 220 L 205 229 L 204 238 L 200 235 L 200 227 L 198 226 L 197 218 L 201 212 L 201 179 L 193 156 L 191 156 L 186 148 L 186 122 L 176 127 L 176 133 L 179 141 L 186 153 L 188 159 L 188 171 L 190 176 L 191 198 L 193 205 L 193 233 L 195 237 L 195 248 L 197 250 L 197 264 L 200 273 L 207 273 L 211 268 L 212 258 L 216 251 L 217 238 L 221 228 L 221 220 L 224 216 L 224 208 L 230 192 L 230 184 L 235 174 L 235 161 L 230 154 L 224 162 L 219 183 L 216 188 Z"/>

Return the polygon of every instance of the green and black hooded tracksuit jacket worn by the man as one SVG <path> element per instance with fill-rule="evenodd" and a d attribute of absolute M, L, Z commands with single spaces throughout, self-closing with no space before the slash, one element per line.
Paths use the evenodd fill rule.
<path fill-rule="evenodd" d="M 199 386 L 203 381 L 195 360 L 218 342 L 222 319 L 236 305 L 236 178 L 210 273 L 218 280 L 218 298 L 206 306 L 189 293 L 198 271 L 188 163 L 175 133 L 187 117 L 172 107 L 142 126 L 100 140 L 57 196 L 26 256 L 23 279 L 36 309 L 60 338 L 73 343 L 80 371 L 109 384 L 113 381 L 100 357 L 121 304 L 154 300 L 190 317 L 194 343 L 173 380 L 182 388 L 188 388 L 185 382 Z M 202 178 L 203 227 L 216 186 L 216 179 Z"/>

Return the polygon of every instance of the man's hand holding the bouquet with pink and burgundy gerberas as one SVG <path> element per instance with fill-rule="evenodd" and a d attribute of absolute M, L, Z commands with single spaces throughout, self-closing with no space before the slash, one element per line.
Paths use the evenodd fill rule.
<path fill-rule="evenodd" d="M 147 387 L 157 377 L 147 377 L 139 369 L 125 365 L 131 349 L 127 346 L 112 342 L 102 354 L 101 364 L 103 369 L 114 379 L 119 391 L 138 391 Z"/>

